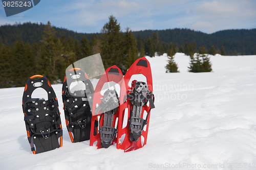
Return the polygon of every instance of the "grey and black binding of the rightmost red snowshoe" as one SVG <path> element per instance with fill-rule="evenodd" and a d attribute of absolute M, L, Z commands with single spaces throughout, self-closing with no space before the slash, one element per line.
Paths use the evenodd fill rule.
<path fill-rule="evenodd" d="M 127 94 L 127 100 L 131 102 L 130 117 L 129 117 L 129 129 L 130 129 L 130 140 L 138 141 L 142 134 L 144 126 L 147 124 L 148 113 L 152 108 L 155 108 L 153 101 L 153 94 L 148 90 L 145 82 L 132 82 L 131 93 Z M 146 119 L 141 117 L 142 107 L 150 102 L 151 109 L 147 112 Z"/>

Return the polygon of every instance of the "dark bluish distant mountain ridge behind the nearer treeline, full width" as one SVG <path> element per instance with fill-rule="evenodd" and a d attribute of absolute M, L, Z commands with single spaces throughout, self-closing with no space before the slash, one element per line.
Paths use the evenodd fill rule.
<path fill-rule="evenodd" d="M 0 42 L 12 45 L 15 40 L 23 40 L 25 43 L 39 42 L 43 34 L 45 25 L 42 23 L 16 23 L 15 25 L 4 25 L 0 27 Z M 71 36 L 80 41 L 83 35 L 90 40 L 92 33 L 77 33 L 71 30 L 56 28 L 56 35 L 66 38 Z M 187 42 L 195 41 L 197 47 L 205 46 L 208 50 L 211 45 L 216 49 L 224 47 L 227 55 L 253 55 L 256 54 L 256 29 L 223 30 L 212 34 L 206 34 L 200 31 L 190 29 L 166 29 L 166 30 L 144 30 L 133 31 L 135 37 L 140 34 L 142 39 L 151 37 L 156 32 L 160 42 L 174 42 L 176 46 L 184 45 Z M 100 33 L 96 33 L 100 37 Z"/>

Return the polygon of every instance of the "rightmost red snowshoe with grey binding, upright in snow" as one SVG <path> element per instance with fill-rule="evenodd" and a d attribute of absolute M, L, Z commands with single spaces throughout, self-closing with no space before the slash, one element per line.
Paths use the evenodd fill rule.
<path fill-rule="evenodd" d="M 136 74 L 145 76 L 146 82 L 133 80 L 130 87 L 129 81 Z M 145 57 L 136 60 L 127 70 L 124 84 L 125 90 L 121 90 L 120 94 L 123 104 L 120 105 L 119 110 L 117 149 L 129 152 L 146 144 L 150 112 L 155 108 L 151 67 Z M 124 115 L 125 110 L 128 111 L 127 118 Z"/>

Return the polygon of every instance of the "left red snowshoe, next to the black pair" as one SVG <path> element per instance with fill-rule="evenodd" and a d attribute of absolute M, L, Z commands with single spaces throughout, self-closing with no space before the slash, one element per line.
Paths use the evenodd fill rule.
<path fill-rule="evenodd" d="M 112 66 L 106 69 L 101 76 L 94 93 L 93 110 L 92 110 L 92 125 L 91 139 L 92 146 L 97 142 L 97 148 L 109 148 L 113 142 L 116 143 L 117 118 L 119 114 L 119 98 L 117 89 L 107 89 L 104 94 L 101 94 L 102 87 L 105 83 L 114 82 L 121 88 L 123 81 L 122 71 L 117 66 Z M 124 84 L 123 84 L 124 85 Z M 94 131 L 93 127 L 99 127 Z"/>

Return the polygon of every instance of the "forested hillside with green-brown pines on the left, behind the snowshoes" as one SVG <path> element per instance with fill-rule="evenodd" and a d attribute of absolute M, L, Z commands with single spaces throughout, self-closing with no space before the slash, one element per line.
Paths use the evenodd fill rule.
<path fill-rule="evenodd" d="M 139 57 L 132 31 L 126 29 L 124 33 L 121 32 L 120 23 L 114 16 L 110 16 L 110 21 L 105 23 L 100 36 L 90 34 L 91 38 L 57 29 L 50 22 L 47 25 L 26 23 L 5 27 L 10 28 L 7 31 L 10 38 L 15 40 L 16 35 L 16 40 L 11 44 L 0 43 L 0 88 L 24 86 L 29 77 L 37 74 L 46 76 L 51 84 L 62 83 L 70 64 L 98 53 L 105 68 L 117 65 L 125 74 Z M 42 28 L 42 31 L 33 29 L 35 27 Z M 5 33 L 2 30 L 1 35 L 7 41 Z"/>

